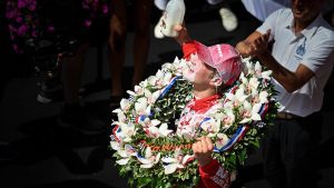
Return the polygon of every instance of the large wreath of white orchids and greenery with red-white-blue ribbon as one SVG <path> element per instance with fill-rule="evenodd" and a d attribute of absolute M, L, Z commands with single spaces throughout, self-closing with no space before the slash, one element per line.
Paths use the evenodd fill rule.
<path fill-rule="evenodd" d="M 209 115 L 196 137 L 207 136 L 215 148 L 213 157 L 228 171 L 244 165 L 274 119 L 278 103 L 271 83 L 272 71 L 263 71 L 258 61 L 243 59 L 239 79 L 219 99 L 218 112 Z M 163 65 L 128 91 L 129 99 L 114 110 L 110 146 L 116 166 L 131 187 L 195 187 L 199 180 L 197 161 L 193 160 L 194 139 L 175 133 L 175 119 L 193 98 L 191 85 L 183 79 L 186 60 Z M 200 130 L 200 131 L 199 131 Z M 154 178 L 153 178 L 154 177 Z"/>

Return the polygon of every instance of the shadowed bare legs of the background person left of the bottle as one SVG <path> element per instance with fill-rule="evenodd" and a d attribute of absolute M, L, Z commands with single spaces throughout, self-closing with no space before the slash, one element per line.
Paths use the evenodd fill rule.
<path fill-rule="evenodd" d="M 128 18 L 129 9 L 127 3 L 132 3 L 132 17 Z M 119 105 L 125 93 L 122 77 L 128 76 L 122 72 L 126 56 L 134 56 L 132 86 L 138 85 L 144 79 L 147 57 L 149 52 L 149 21 L 153 8 L 153 0 L 112 0 L 114 13 L 110 18 L 110 72 L 111 72 L 111 96 L 110 106 Z M 134 23 L 135 40 L 132 53 L 126 55 L 126 39 L 128 24 Z"/>

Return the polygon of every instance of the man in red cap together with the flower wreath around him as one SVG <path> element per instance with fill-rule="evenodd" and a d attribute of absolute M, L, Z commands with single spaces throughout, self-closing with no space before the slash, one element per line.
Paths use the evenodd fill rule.
<path fill-rule="evenodd" d="M 276 115 L 271 71 L 229 44 L 206 47 L 186 28 L 176 31 L 184 58 L 163 65 L 112 111 L 112 156 L 130 186 L 228 188 Z"/>

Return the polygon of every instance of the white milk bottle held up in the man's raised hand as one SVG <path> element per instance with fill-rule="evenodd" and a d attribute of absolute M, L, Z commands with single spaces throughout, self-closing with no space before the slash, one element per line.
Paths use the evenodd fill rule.
<path fill-rule="evenodd" d="M 160 29 L 164 36 L 177 37 L 178 32 L 174 30 L 175 24 L 181 24 L 186 12 L 184 0 L 170 0 L 167 3 Z"/>

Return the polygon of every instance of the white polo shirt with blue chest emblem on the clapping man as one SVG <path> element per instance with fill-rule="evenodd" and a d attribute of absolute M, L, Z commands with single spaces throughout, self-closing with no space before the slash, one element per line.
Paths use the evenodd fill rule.
<path fill-rule="evenodd" d="M 306 66 L 315 76 L 302 88 L 288 93 L 276 80 L 273 80 L 276 97 L 281 102 L 278 111 L 306 117 L 318 111 L 323 105 L 323 89 L 334 63 L 334 31 L 320 14 L 306 29 L 295 34 L 291 9 L 273 12 L 257 29 L 265 33 L 272 29 L 273 57 L 286 69 L 296 71 L 299 63 Z"/>

